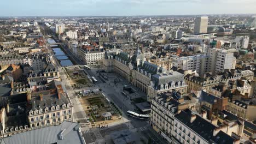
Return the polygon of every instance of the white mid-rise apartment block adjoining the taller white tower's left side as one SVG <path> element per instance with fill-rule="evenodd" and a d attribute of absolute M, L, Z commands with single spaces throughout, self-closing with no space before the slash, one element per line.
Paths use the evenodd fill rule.
<path fill-rule="evenodd" d="M 172 65 L 182 70 L 196 71 L 199 75 L 203 76 L 207 73 L 208 57 L 206 55 L 195 55 L 173 58 Z"/>

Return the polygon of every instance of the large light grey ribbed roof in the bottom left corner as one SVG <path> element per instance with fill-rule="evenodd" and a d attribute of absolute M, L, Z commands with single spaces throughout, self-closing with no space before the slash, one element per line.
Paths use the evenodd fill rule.
<path fill-rule="evenodd" d="M 83 137 L 79 135 L 79 127 L 78 123 L 64 121 L 60 125 L 52 125 L 5 137 L 0 144 L 83 143 Z"/>

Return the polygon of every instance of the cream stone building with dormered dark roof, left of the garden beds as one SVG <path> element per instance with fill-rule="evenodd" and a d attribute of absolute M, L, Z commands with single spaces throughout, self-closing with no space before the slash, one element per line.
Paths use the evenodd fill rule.
<path fill-rule="evenodd" d="M 28 101 L 31 103 L 28 121 L 32 129 L 73 121 L 72 105 L 61 85 L 57 85 L 56 94 L 39 94 L 39 97 L 31 97 L 28 93 Z"/>

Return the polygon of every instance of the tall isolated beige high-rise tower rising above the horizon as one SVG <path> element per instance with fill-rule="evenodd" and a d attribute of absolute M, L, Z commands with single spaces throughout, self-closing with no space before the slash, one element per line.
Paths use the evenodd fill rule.
<path fill-rule="evenodd" d="M 195 26 L 194 26 L 194 34 L 207 33 L 208 27 L 208 17 L 196 17 Z"/>

